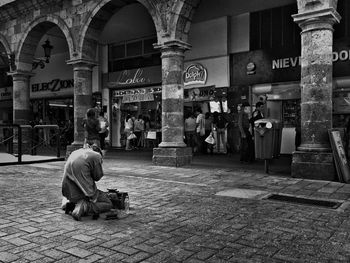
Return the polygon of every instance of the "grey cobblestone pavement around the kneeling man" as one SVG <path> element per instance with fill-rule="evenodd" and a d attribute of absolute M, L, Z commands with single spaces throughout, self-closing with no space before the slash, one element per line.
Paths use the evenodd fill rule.
<path fill-rule="evenodd" d="M 78 222 L 59 208 L 63 165 L 0 168 L 1 262 L 350 262 L 350 185 L 107 159 L 98 187 L 128 191 L 130 214 Z"/>

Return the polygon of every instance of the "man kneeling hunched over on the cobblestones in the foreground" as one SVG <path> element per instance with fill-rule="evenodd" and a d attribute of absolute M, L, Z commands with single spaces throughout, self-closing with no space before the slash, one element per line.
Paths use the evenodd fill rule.
<path fill-rule="evenodd" d="M 102 177 L 102 151 L 97 145 L 73 151 L 64 166 L 62 195 L 68 203 L 62 203 L 62 209 L 78 221 L 82 216 L 108 212 L 112 202 L 95 183 Z"/>

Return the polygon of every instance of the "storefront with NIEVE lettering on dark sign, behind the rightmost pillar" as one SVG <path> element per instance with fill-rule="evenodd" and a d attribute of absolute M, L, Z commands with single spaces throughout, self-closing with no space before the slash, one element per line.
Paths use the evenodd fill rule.
<path fill-rule="evenodd" d="M 344 41 L 333 47 L 333 127 L 350 117 L 350 51 Z M 300 122 L 300 51 L 256 50 L 231 56 L 232 82 L 250 89 L 250 102 L 266 101 L 267 118 L 282 123 L 282 154 L 295 150 L 295 127 Z"/>

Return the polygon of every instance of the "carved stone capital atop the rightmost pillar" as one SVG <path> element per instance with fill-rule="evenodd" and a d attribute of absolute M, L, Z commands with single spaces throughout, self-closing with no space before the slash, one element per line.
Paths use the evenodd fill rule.
<path fill-rule="evenodd" d="M 294 22 L 305 31 L 329 29 L 333 30 L 333 25 L 339 23 L 341 16 L 333 8 L 324 8 L 292 15 Z"/>

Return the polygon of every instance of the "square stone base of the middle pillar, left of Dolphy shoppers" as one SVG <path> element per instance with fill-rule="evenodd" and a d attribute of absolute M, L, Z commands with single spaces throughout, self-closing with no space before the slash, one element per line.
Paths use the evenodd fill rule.
<path fill-rule="evenodd" d="M 159 166 L 185 166 L 192 162 L 192 148 L 154 148 L 152 162 Z"/>

